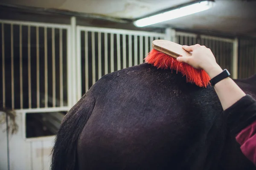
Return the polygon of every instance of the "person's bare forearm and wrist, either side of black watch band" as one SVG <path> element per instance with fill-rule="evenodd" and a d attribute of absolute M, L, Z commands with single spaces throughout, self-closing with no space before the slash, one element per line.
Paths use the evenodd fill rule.
<path fill-rule="evenodd" d="M 220 74 L 223 70 L 219 65 L 216 65 L 206 71 L 209 77 L 212 79 L 213 77 Z M 245 96 L 245 93 L 241 90 L 241 88 L 239 88 L 239 86 L 236 85 L 236 83 L 229 77 L 216 83 L 214 89 L 218 95 L 223 110 L 226 110 L 243 96 Z"/>

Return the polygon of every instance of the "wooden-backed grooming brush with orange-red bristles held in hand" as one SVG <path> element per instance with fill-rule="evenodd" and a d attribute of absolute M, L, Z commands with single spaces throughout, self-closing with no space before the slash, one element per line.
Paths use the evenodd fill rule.
<path fill-rule="evenodd" d="M 170 69 L 180 72 L 186 77 L 186 82 L 199 87 L 207 87 L 210 81 L 209 75 L 201 69 L 177 61 L 177 57 L 191 57 L 192 53 L 184 50 L 182 45 L 168 40 L 154 40 L 153 49 L 145 57 L 145 62 L 161 69 Z"/>

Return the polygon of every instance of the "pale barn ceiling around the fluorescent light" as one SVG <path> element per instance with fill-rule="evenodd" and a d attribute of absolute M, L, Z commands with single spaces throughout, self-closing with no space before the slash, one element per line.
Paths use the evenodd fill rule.
<path fill-rule="evenodd" d="M 194 0 L 0 0 L 0 3 L 134 20 L 192 1 Z M 207 11 L 153 26 L 256 36 L 255 9 L 256 0 L 215 0 L 215 6 Z"/>

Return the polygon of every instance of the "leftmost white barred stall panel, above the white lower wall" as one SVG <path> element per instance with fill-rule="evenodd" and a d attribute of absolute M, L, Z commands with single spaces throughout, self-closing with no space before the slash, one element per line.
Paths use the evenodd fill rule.
<path fill-rule="evenodd" d="M 37 23 L 31 23 L 31 22 L 16 22 L 16 21 L 6 21 L 6 20 L 0 20 L 2 23 L 2 32 L 0 34 L 3 35 L 2 38 L 2 46 L 0 48 L 6 48 L 10 49 L 8 51 L 10 54 L 10 60 L 8 61 L 8 65 L 10 68 L 6 68 L 6 51 L 5 49 L 2 50 L 2 54 L 0 56 L 3 65 L 1 64 L 1 73 L 3 76 L 3 101 L 1 102 L 3 104 L 6 104 L 6 102 L 9 102 L 8 105 L 12 109 L 23 109 L 23 108 L 40 108 L 40 103 L 43 103 L 43 107 L 48 107 L 48 102 L 52 102 L 52 106 L 56 107 L 57 103 L 64 103 L 63 101 L 63 94 L 68 93 L 68 100 L 67 102 L 72 100 L 72 97 L 75 96 L 72 92 L 72 84 L 69 83 L 72 82 L 73 84 L 76 83 L 75 81 L 63 81 L 63 77 L 65 79 L 70 80 L 70 78 L 73 78 L 76 73 L 73 73 L 70 68 L 72 68 L 73 57 L 70 59 L 71 55 L 69 54 L 70 45 L 66 45 L 67 48 L 62 48 L 62 45 L 64 42 L 62 42 L 62 36 L 63 30 L 65 30 L 65 34 L 67 35 L 67 43 L 70 41 L 70 26 L 59 26 L 58 24 L 53 25 L 47 25 L 47 24 L 37 24 Z M 10 30 L 5 30 L 6 25 L 9 26 Z M 17 26 L 17 27 L 16 27 Z M 34 31 L 35 28 L 35 31 Z M 43 29 L 42 29 L 43 28 Z M 51 37 L 49 34 L 47 35 L 47 29 L 51 28 Z M 55 31 L 56 29 L 60 30 L 60 56 L 55 56 L 56 52 L 56 44 L 55 44 L 55 36 L 57 36 L 58 32 Z M 24 33 L 27 34 L 26 37 L 24 37 Z M 9 34 L 9 41 L 10 43 L 6 43 L 5 40 L 6 34 Z M 16 34 L 16 35 L 15 35 Z M 18 36 L 17 36 L 18 35 Z M 16 37 L 15 37 L 16 36 Z M 39 40 L 39 38 L 43 37 Z M 66 38 L 65 38 L 66 39 Z M 17 40 L 17 41 L 16 41 Z M 24 42 L 25 41 L 25 42 Z M 47 43 L 49 41 L 52 41 L 52 43 Z M 26 43 L 26 44 L 25 44 Z M 43 43 L 42 49 L 39 47 L 41 45 L 40 43 Z M 65 42 L 66 43 L 66 42 Z M 18 46 L 18 47 L 17 47 Z M 16 49 L 17 47 L 17 49 Z M 49 49 L 51 49 L 51 54 L 49 54 Z M 35 51 L 35 53 L 34 53 Z M 65 56 L 65 63 L 67 65 L 63 64 L 63 53 L 67 51 L 67 58 Z M 42 56 L 41 56 L 42 55 Z M 19 57 L 18 60 L 15 58 Z M 56 71 L 57 62 L 55 59 L 59 58 L 60 63 L 59 72 Z M 41 60 L 43 59 L 43 60 Z M 17 61 L 17 65 L 16 65 Z M 42 62 L 40 62 L 42 61 Z M 49 64 L 48 64 L 49 63 Z M 49 72 L 49 65 L 51 65 L 51 72 Z M 35 68 L 35 70 L 34 70 Z M 42 69 L 44 68 L 44 69 Z M 75 67 L 73 67 L 75 68 Z M 10 81 L 6 81 L 6 69 L 10 69 Z M 65 71 L 63 71 L 63 69 Z M 76 69 L 76 68 L 75 68 Z M 41 73 L 41 71 L 43 73 Z M 27 75 L 23 75 L 26 73 Z M 57 75 L 58 73 L 58 75 Z M 70 74 L 71 73 L 71 74 Z M 70 74 L 70 75 L 63 75 L 63 74 Z M 43 77 L 41 77 L 43 75 Z M 52 76 L 51 79 L 48 79 L 49 75 Z M 35 77 L 35 86 L 33 84 L 34 80 L 32 78 Z M 56 84 L 56 79 L 60 79 L 60 83 Z M 44 79 L 44 81 L 42 81 Z M 18 82 L 18 84 L 15 84 Z M 6 84 L 7 83 L 7 84 Z M 24 84 L 25 83 L 25 84 Z M 6 94 L 6 87 L 10 87 L 10 91 L 8 91 L 8 94 Z M 43 88 L 41 88 L 41 85 Z M 52 96 L 49 94 L 49 88 L 52 89 Z M 65 88 L 64 88 L 65 87 Z M 67 87 L 67 88 L 66 88 Z M 61 100 L 56 100 L 56 91 L 62 91 L 61 94 Z M 60 89 L 60 90 L 59 90 Z M 67 90 L 68 89 L 68 90 Z M 2 89 L 0 89 L 2 91 Z M 17 90 L 17 91 L 16 91 Z M 42 91 L 41 91 L 42 90 Z M 33 91 L 35 93 L 33 93 Z M 35 96 L 34 96 L 35 94 Z M 71 95 L 70 95 L 71 94 Z M 2 96 L 1 96 L 2 97 Z M 35 97 L 35 100 L 33 99 Z M 76 96 L 75 96 L 76 97 Z M 6 99 L 10 99 L 7 100 Z M 71 100 L 70 100 L 71 99 Z M 34 105 L 35 103 L 35 105 Z M 72 102 L 71 105 L 72 106 Z M 52 107 L 49 106 L 49 107 Z M 60 107 L 62 107 L 61 105 Z M 3 107 L 3 106 L 1 106 Z M 42 106 L 41 106 L 42 107 Z"/>

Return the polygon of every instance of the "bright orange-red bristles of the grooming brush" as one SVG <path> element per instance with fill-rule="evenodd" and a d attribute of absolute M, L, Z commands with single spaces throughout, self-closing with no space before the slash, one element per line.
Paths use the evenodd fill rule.
<path fill-rule="evenodd" d="M 186 76 L 186 81 L 194 83 L 199 87 L 207 87 L 210 81 L 209 75 L 204 70 L 198 70 L 192 66 L 177 61 L 176 58 L 164 54 L 160 51 L 152 49 L 148 56 L 145 57 L 145 62 L 154 65 L 157 68 L 172 69 L 180 72 L 183 76 Z"/>

